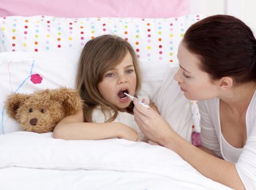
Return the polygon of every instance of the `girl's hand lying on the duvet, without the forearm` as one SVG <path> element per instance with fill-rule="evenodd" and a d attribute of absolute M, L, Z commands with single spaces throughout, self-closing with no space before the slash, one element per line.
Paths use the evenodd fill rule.
<path fill-rule="evenodd" d="M 123 138 L 126 140 L 137 141 L 139 134 L 130 128 L 129 126 L 121 123 L 113 123 L 117 125 L 117 138 Z"/>

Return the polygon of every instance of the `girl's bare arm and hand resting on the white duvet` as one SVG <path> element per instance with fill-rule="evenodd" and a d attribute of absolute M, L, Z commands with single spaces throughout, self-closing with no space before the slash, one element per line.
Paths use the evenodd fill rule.
<path fill-rule="evenodd" d="M 65 117 L 53 131 L 54 138 L 65 140 L 101 140 L 108 138 L 124 138 L 137 141 L 138 134 L 129 126 L 121 123 L 87 123 L 84 122 L 83 111 Z"/>

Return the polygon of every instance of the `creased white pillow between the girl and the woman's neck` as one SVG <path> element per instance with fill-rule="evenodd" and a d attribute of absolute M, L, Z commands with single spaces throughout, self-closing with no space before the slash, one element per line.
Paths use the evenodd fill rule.
<path fill-rule="evenodd" d="M 173 130 L 191 142 L 193 119 L 191 103 L 185 98 L 177 81 L 173 77 L 179 67 L 168 68 L 156 98 L 160 115 L 170 124 Z"/>

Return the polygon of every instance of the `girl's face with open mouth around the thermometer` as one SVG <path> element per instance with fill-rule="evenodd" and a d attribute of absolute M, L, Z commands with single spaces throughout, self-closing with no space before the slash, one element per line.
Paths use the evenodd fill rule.
<path fill-rule="evenodd" d="M 104 73 L 102 81 L 98 83 L 98 90 L 102 97 L 119 110 L 125 109 L 131 103 L 124 92 L 134 95 L 135 88 L 136 74 L 129 52 L 121 63 Z"/>

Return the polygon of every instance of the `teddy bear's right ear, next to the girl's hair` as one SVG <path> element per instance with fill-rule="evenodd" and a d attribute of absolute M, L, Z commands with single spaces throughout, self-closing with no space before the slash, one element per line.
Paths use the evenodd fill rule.
<path fill-rule="evenodd" d="M 56 89 L 51 94 L 51 98 L 62 101 L 65 109 L 65 116 L 73 115 L 80 111 L 83 107 L 82 99 L 79 93 L 73 89 L 67 89 L 65 87 Z"/>

